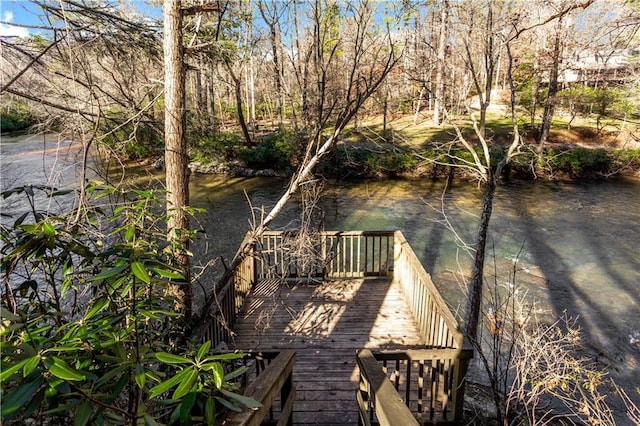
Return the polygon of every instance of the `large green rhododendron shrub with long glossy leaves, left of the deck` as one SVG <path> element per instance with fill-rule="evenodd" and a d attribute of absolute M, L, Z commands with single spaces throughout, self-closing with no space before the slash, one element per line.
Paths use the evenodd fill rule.
<path fill-rule="evenodd" d="M 161 192 L 91 187 L 94 208 L 78 223 L 75 213 L 37 210 L 38 191 L 46 200 L 70 192 L 0 194 L 32 206 L 0 228 L 0 265 L 13 286 L 0 322 L 3 424 L 213 425 L 216 406 L 259 405 L 236 393 L 232 379 L 244 369 L 233 360 L 242 355 L 176 344 L 190 284 L 170 265 L 176 247 L 157 214 Z"/>

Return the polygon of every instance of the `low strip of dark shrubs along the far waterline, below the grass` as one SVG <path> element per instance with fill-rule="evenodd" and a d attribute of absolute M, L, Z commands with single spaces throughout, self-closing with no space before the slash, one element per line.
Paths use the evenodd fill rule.
<path fill-rule="evenodd" d="M 545 181 L 610 179 L 628 177 L 640 179 L 640 149 L 608 149 L 603 147 L 569 146 L 549 144 L 541 155 L 535 145 L 525 144 L 520 153 L 504 169 L 504 179 Z M 493 161 L 504 155 L 504 147 L 492 147 Z M 473 171 L 466 167 L 472 160 L 464 149 L 451 149 L 443 153 L 441 148 L 423 150 L 372 151 L 368 147 L 338 146 L 321 159 L 317 171 L 328 179 L 388 179 L 456 177 L 475 179 Z M 147 161 L 147 164 L 149 162 Z M 156 160 L 154 167 L 161 168 Z M 293 168 L 254 168 L 240 161 L 192 162 L 193 173 L 224 174 L 233 177 L 287 177 Z"/>

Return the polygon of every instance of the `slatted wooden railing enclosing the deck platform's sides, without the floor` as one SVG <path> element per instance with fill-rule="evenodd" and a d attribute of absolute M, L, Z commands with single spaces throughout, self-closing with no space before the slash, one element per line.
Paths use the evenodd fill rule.
<path fill-rule="evenodd" d="M 400 231 L 306 236 L 265 232 L 216 293 L 204 338 L 214 345 L 230 340 L 236 316 L 259 280 L 366 276 L 393 276 L 402 287 L 424 339 L 424 350 L 375 352 L 372 357 L 378 361 L 378 373 L 372 372 L 371 356 L 363 363 L 366 352 L 358 354 L 358 364 L 362 364 L 358 391 L 361 421 L 378 419 L 380 424 L 389 424 L 383 420 L 384 413 L 390 409 L 387 404 L 395 407 L 397 400 L 404 401 L 421 421 L 459 421 L 464 375 L 472 351 L 465 348 L 455 317 Z M 387 385 L 382 393 L 383 388 L 377 388 L 380 374 L 391 379 L 391 390 Z"/>

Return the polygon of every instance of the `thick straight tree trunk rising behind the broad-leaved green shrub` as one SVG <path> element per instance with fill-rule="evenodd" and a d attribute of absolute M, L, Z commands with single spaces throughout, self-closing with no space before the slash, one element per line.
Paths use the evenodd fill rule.
<path fill-rule="evenodd" d="M 179 247 L 175 261 L 185 276 L 182 303 L 185 317 L 191 318 L 192 292 L 188 256 L 189 159 L 185 139 L 185 77 L 182 55 L 180 0 L 164 1 L 164 85 L 165 85 L 165 164 L 167 186 L 167 239 Z"/>

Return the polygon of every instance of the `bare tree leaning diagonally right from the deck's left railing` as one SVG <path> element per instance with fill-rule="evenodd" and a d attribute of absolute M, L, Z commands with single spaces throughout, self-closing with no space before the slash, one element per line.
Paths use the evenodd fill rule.
<path fill-rule="evenodd" d="M 319 5 L 316 4 L 315 15 L 317 27 L 322 27 L 322 20 L 326 17 L 322 16 L 319 11 Z M 350 5 L 351 15 L 348 19 L 349 25 L 353 25 L 353 36 L 346 42 L 338 43 L 327 34 L 319 34 L 316 32 L 315 39 L 321 42 L 316 47 L 316 66 L 318 67 L 318 89 L 315 97 L 315 111 L 318 114 L 318 120 L 315 132 L 309 136 L 305 158 L 300 164 L 297 172 L 291 178 L 289 186 L 285 193 L 276 202 L 274 207 L 256 223 L 254 229 L 244 239 L 236 256 L 230 265 L 227 273 L 221 278 L 220 282 L 224 282 L 229 274 L 233 273 L 236 265 L 246 256 L 252 243 L 259 238 L 267 227 L 282 211 L 284 206 L 289 202 L 292 195 L 295 194 L 301 185 L 307 182 L 313 174 L 313 171 L 322 157 L 328 154 L 337 143 L 342 131 L 347 124 L 353 119 L 362 105 L 378 90 L 385 78 L 397 64 L 399 52 L 395 49 L 395 44 L 391 38 L 391 30 L 389 27 L 381 28 L 381 32 L 375 33 L 369 31 L 373 20 L 373 9 L 367 0 L 362 0 L 357 4 Z M 334 10 L 335 12 L 335 10 Z M 322 25 L 321 25 L 322 24 Z M 334 31 L 335 28 L 329 25 L 324 27 L 327 31 Z M 316 31 L 319 31 L 316 28 Z M 348 78 L 342 81 L 342 85 L 330 86 L 328 76 L 329 69 L 335 65 L 337 57 L 335 52 L 338 48 L 345 50 L 345 54 L 341 56 L 345 62 L 341 63 L 344 69 L 344 75 Z M 324 56 L 328 53 L 329 56 Z M 330 94 L 329 87 L 335 89 Z M 320 96 L 318 96 L 320 94 Z M 332 129 L 328 135 L 323 134 L 326 123 L 332 120 Z M 215 295 L 209 295 L 204 303 L 200 317 L 204 317 L 209 307 L 214 303 Z"/>

